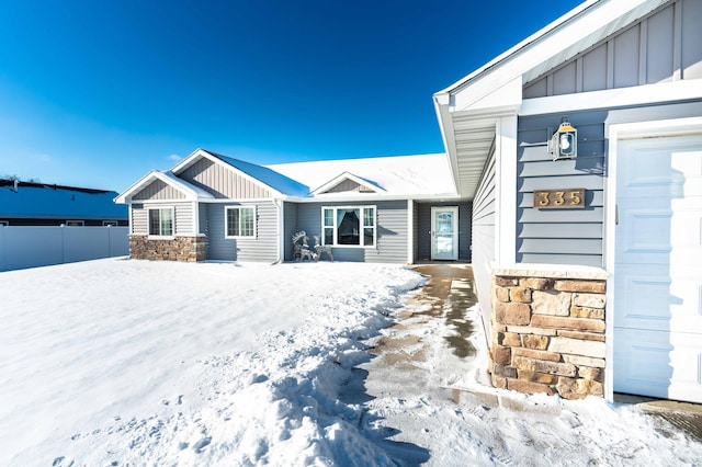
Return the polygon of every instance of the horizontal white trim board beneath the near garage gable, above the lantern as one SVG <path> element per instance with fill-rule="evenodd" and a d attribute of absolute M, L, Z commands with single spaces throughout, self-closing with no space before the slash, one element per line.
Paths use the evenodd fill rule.
<path fill-rule="evenodd" d="M 702 80 L 681 80 L 630 88 L 607 89 L 603 91 L 524 99 L 519 110 L 519 115 L 529 116 L 578 112 L 590 109 L 624 107 L 687 101 L 691 99 L 702 99 Z"/>

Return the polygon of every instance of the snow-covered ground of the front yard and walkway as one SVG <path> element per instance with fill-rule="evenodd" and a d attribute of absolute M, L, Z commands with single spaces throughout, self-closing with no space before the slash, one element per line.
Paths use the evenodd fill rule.
<path fill-rule="evenodd" d="M 421 283 L 327 262 L 0 273 L 0 465 L 702 465 L 635 407 L 480 385 L 484 349 L 453 355 L 445 320 L 388 328 Z M 410 369 L 365 351 L 404 332 L 427 349 Z"/>

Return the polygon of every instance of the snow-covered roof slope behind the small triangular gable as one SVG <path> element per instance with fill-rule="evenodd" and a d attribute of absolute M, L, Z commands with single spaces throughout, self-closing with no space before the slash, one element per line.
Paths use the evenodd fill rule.
<path fill-rule="evenodd" d="M 268 166 L 307 186 L 318 186 L 316 198 L 367 196 L 369 193 L 324 193 L 343 176 L 364 182 L 375 194 L 387 196 L 455 196 L 451 170 L 444 153 L 336 159 Z M 341 174 L 341 175 L 340 175 Z"/>

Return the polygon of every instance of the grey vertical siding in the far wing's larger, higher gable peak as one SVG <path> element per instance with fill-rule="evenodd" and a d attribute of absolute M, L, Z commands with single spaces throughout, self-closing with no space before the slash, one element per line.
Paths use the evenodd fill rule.
<path fill-rule="evenodd" d="M 207 158 L 201 158 L 178 176 L 219 200 L 261 200 L 273 195 L 260 183 Z"/>

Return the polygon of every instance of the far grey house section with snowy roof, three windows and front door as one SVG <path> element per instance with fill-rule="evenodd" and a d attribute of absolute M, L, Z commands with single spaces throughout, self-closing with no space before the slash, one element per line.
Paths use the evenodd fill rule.
<path fill-rule="evenodd" d="M 471 260 L 471 203 L 443 153 L 263 167 L 197 149 L 115 201 L 136 259 L 291 261 L 304 230 L 341 261 Z"/>

